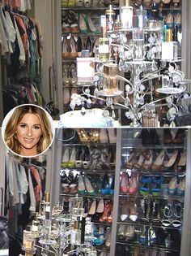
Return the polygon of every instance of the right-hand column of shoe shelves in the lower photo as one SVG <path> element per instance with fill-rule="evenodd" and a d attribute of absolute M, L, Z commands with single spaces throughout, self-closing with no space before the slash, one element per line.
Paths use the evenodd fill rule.
<path fill-rule="evenodd" d="M 187 131 L 122 129 L 121 138 L 115 255 L 180 255 Z"/>

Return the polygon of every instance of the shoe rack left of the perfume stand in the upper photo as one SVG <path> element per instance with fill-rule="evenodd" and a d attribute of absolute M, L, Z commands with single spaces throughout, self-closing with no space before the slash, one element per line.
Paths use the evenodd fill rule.
<path fill-rule="evenodd" d="M 118 1 L 112 1 L 113 9 L 119 10 Z M 62 1 L 62 89 L 64 110 L 70 110 L 73 93 L 81 93 L 78 83 L 76 58 L 82 50 L 89 50 L 94 57 L 100 37 L 100 15 L 108 9 L 107 1 Z M 100 102 L 94 102 L 100 106 Z"/>

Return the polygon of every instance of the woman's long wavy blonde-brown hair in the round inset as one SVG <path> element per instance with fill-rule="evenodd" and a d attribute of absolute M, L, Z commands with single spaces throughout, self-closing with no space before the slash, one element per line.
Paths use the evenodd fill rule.
<path fill-rule="evenodd" d="M 37 154 L 40 154 L 49 147 L 53 139 L 53 133 L 48 116 L 46 115 L 45 111 L 38 106 L 24 105 L 17 107 L 6 124 L 4 140 L 6 145 L 12 151 L 14 151 L 16 154 L 20 154 L 21 146 L 17 139 L 16 129 L 20 121 L 23 119 L 23 116 L 28 113 L 36 115 L 40 120 L 40 129 L 42 135 L 37 144 Z"/>

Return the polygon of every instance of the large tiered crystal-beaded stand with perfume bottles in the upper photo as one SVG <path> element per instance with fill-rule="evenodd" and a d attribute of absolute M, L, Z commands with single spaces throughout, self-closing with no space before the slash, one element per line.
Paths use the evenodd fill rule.
<path fill-rule="evenodd" d="M 85 106 L 90 108 L 93 99 L 100 100 L 104 102 L 104 119 L 115 119 L 114 109 L 118 106 L 126 109 L 130 126 L 136 128 L 159 127 L 157 108 L 164 106 L 168 109 L 169 125 L 176 126 L 176 116 L 181 114 L 183 107 L 188 109 L 190 94 L 186 93 L 186 86 L 191 83 L 177 64 L 181 61 L 178 42 L 164 41 L 163 21 L 146 20 L 146 11 L 142 7 L 134 10 L 134 15 L 133 7 L 122 7 L 121 21 L 121 29 L 108 31 L 112 58 L 96 59 L 94 79 L 82 85 L 83 93 L 72 95 L 71 108 L 82 106 L 81 115 L 86 115 Z M 127 72 L 129 78 L 120 76 L 119 72 Z M 155 79 L 161 84 L 157 89 Z M 120 80 L 125 83 L 124 92 L 119 89 Z M 93 93 L 92 86 L 95 88 Z M 161 97 L 155 98 L 155 93 Z M 144 124 L 144 120 L 151 120 L 151 123 L 146 121 Z M 110 126 L 111 122 L 106 124 Z"/>

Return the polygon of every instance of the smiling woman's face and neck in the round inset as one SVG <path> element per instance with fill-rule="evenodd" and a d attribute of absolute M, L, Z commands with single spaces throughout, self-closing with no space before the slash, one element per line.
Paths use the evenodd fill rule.
<path fill-rule="evenodd" d="M 16 132 L 21 145 L 20 154 L 24 156 L 36 155 L 37 144 L 42 134 L 38 116 L 32 113 L 25 114 L 20 120 Z"/>

